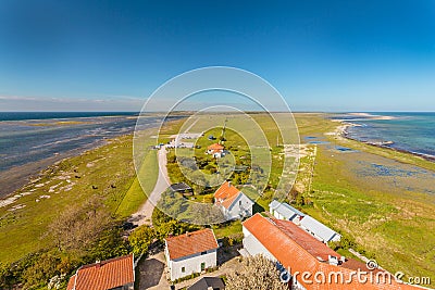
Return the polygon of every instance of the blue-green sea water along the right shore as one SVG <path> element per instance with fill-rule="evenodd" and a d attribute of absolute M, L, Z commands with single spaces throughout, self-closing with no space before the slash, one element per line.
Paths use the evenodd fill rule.
<path fill-rule="evenodd" d="M 347 137 L 435 157 L 435 113 L 345 114 Z"/>

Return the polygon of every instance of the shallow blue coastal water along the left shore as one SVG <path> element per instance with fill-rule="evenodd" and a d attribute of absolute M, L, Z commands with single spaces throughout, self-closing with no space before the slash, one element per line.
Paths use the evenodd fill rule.
<path fill-rule="evenodd" d="M 145 127 L 160 124 L 150 116 Z M 0 198 L 48 165 L 132 134 L 134 113 L 0 113 Z"/>

